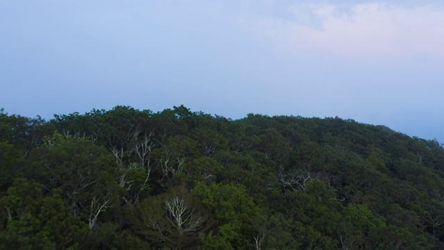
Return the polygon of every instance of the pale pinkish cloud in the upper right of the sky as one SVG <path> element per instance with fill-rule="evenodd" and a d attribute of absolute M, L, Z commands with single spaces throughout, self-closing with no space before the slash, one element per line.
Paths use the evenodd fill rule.
<path fill-rule="evenodd" d="M 259 24 L 278 47 L 376 60 L 444 58 L 443 8 L 362 3 L 289 10 L 289 17 L 266 17 Z"/>

